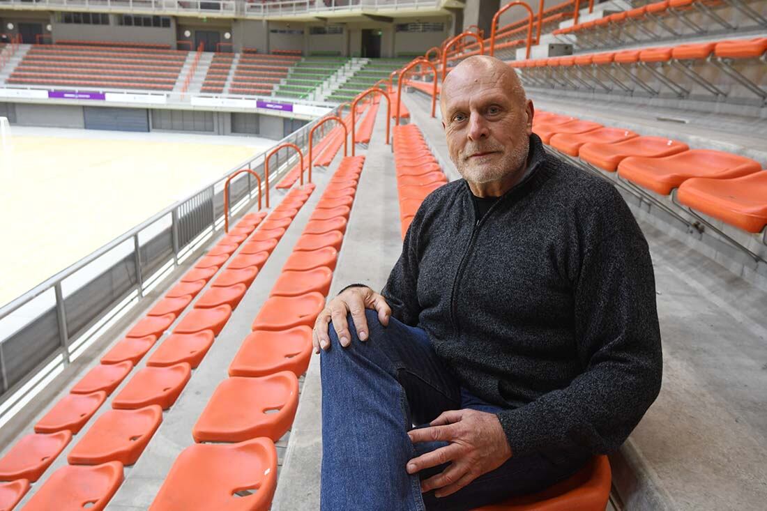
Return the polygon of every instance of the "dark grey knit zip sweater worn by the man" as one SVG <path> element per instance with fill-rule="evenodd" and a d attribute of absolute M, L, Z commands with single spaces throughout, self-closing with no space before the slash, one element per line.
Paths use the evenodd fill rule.
<path fill-rule="evenodd" d="M 660 391 L 653 265 L 611 184 L 530 143 L 531 172 L 482 219 L 465 180 L 426 197 L 382 294 L 505 408 L 514 455 L 607 453 Z"/>

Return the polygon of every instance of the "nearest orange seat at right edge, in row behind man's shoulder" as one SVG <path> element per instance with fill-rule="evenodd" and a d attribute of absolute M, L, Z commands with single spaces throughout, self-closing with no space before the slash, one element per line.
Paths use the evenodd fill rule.
<path fill-rule="evenodd" d="M 767 172 L 764 170 L 732 180 L 687 180 L 679 187 L 677 198 L 685 206 L 746 232 L 762 232 L 767 225 Z"/>

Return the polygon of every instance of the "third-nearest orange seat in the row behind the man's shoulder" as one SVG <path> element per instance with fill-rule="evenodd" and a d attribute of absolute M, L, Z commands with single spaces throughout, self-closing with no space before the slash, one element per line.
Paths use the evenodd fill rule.
<path fill-rule="evenodd" d="M 578 151 L 581 160 L 615 172 L 618 163 L 627 157 L 667 157 L 690 149 L 686 143 L 665 137 L 636 137 L 617 143 L 585 143 Z"/>

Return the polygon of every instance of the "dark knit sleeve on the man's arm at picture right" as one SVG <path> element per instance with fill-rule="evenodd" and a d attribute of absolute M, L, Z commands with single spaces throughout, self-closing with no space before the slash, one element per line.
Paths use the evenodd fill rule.
<path fill-rule="evenodd" d="M 610 202 L 585 222 L 571 276 L 574 338 L 584 371 L 568 387 L 499 412 L 513 455 L 552 447 L 617 450 L 660 391 L 650 252 L 624 201 Z"/>

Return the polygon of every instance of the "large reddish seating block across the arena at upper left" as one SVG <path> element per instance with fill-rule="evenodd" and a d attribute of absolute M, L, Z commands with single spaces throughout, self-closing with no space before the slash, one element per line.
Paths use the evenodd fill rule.
<path fill-rule="evenodd" d="M 32 45 L 9 84 L 171 91 L 188 51 Z"/>

